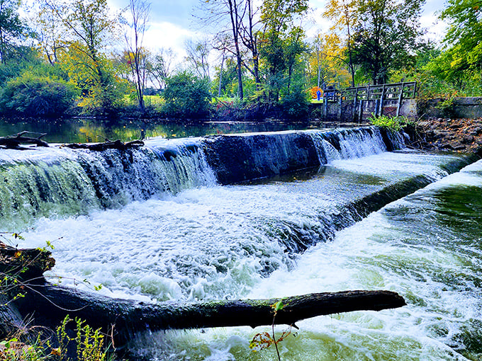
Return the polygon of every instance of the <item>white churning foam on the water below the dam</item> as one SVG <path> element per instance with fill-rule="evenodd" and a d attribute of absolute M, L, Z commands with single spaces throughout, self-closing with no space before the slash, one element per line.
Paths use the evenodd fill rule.
<path fill-rule="evenodd" d="M 86 279 L 115 297 L 265 298 L 383 288 L 409 300 L 397 310 L 302 321 L 298 336 L 282 343 L 282 360 L 463 360 L 445 342 L 460 323 L 479 317 L 473 290 L 460 292 L 466 285 L 447 284 L 431 272 L 461 273 L 463 253 L 411 239 L 393 225 L 388 211 L 371 214 L 294 260 L 284 246 L 293 236 L 326 231 L 330 214 L 364 192 L 416 174 L 441 178 L 447 159 L 383 153 L 334 161 L 330 167 L 344 178 L 322 174 L 291 183 L 187 189 L 116 210 L 39 219 L 24 236 L 28 246 L 53 242 L 53 273 L 65 277 L 62 282 Z M 477 167 L 468 169 L 477 177 Z M 365 174 L 370 181 L 341 182 L 347 174 Z M 410 200 L 399 202 L 387 209 Z M 259 353 L 248 348 L 255 333 L 267 330 L 147 333 L 134 346 L 157 360 L 274 360 L 273 348 Z"/>

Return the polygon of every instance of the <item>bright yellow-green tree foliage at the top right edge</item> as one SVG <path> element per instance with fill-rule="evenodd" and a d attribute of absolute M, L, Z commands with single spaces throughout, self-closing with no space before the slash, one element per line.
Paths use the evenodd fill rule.
<path fill-rule="evenodd" d="M 449 21 L 445 36 L 449 57 L 449 73 L 476 71 L 482 86 L 482 1 L 449 0 L 441 18 Z"/>

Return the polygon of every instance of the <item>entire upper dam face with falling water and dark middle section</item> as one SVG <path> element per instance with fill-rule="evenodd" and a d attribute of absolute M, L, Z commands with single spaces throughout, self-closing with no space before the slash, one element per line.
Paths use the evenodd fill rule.
<path fill-rule="evenodd" d="M 4 149 L 0 219 L 17 227 L 40 217 L 86 214 L 190 188 L 318 168 L 386 149 L 375 127 L 152 139 L 145 147 L 126 151 Z"/>

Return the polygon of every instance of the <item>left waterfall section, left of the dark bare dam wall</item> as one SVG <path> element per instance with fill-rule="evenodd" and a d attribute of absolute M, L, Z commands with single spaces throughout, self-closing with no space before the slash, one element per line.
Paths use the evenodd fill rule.
<path fill-rule="evenodd" d="M 2 150 L 1 224 L 18 229 L 39 217 L 85 214 L 215 184 L 195 141 L 162 144 L 126 151 Z"/>

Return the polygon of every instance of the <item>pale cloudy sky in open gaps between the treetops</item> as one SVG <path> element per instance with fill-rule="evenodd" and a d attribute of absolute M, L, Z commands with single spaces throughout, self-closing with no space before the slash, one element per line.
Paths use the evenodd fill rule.
<path fill-rule="evenodd" d="M 329 28 L 329 23 L 321 16 L 325 0 L 309 0 L 312 11 L 306 19 L 306 32 L 308 37 Z M 176 52 L 178 59 L 182 59 L 184 42 L 189 39 L 202 38 L 202 30 L 193 14 L 198 13 L 196 8 L 201 0 L 153 0 L 151 1 L 150 28 L 148 29 L 144 45 L 154 50 L 171 48 Z M 444 2 L 441 0 L 427 0 L 420 22 L 427 28 L 427 37 L 441 41 L 446 25 L 437 21 L 437 11 L 440 11 Z M 128 5 L 128 0 L 108 0 L 111 10 L 118 11 Z"/>

